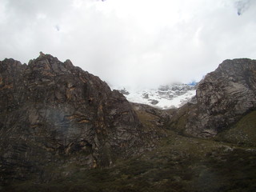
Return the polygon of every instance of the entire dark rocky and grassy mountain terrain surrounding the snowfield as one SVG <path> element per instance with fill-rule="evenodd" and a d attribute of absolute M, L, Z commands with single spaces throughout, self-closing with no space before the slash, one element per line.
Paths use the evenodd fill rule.
<path fill-rule="evenodd" d="M 255 71 L 226 60 L 189 102 L 162 110 L 69 60 L 5 59 L 0 191 L 255 191 Z"/>

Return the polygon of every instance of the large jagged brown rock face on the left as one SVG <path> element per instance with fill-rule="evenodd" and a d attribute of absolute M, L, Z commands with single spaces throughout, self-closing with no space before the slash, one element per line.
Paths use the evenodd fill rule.
<path fill-rule="evenodd" d="M 40 178 L 57 164 L 108 166 L 146 146 L 126 98 L 69 60 L 5 59 L 0 97 L 0 181 Z"/>

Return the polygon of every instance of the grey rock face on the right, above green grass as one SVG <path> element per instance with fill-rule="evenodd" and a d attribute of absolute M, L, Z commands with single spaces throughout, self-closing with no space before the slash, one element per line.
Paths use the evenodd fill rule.
<path fill-rule="evenodd" d="M 256 61 L 226 60 L 199 82 L 193 102 L 183 106 L 171 124 L 183 123 L 186 134 L 207 138 L 255 109 Z"/>

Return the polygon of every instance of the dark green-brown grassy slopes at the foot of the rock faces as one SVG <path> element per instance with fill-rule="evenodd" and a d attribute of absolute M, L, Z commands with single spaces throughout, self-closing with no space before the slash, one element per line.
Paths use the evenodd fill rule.
<path fill-rule="evenodd" d="M 158 117 L 145 111 L 137 112 L 142 122 L 154 129 Z M 254 113 L 242 118 L 234 129 L 243 127 L 243 131 L 254 131 L 248 128 L 250 126 L 243 126 L 244 121 L 255 125 Z M 222 142 L 225 140 L 221 141 L 221 137 L 217 142 L 214 139 L 184 137 L 174 131 L 165 132 L 168 136 L 162 138 L 154 150 L 139 157 L 119 161 L 105 169 L 84 170 L 75 165 L 62 166 L 59 170 L 49 167 L 50 172 L 57 172 L 60 176 L 45 184 L 37 184 L 33 180 L 16 182 L 5 191 L 256 190 L 254 146 Z"/>

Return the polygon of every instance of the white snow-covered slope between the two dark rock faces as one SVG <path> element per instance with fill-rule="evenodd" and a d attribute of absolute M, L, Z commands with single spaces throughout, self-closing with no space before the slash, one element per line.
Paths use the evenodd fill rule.
<path fill-rule="evenodd" d="M 186 84 L 172 84 L 169 86 L 160 86 L 158 89 L 143 90 L 112 88 L 119 90 L 130 102 L 138 102 L 162 109 L 180 107 L 190 101 L 196 93 L 195 86 Z"/>

